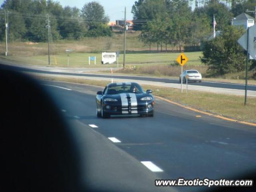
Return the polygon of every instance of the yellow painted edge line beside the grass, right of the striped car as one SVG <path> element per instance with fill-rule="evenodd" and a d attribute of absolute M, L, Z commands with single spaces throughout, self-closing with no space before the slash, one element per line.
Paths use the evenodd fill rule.
<path fill-rule="evenodd" d="M 220 115 L 214 115 L 214 114 L 211 114 L 211 113 L 208 113 L 208 112 L 204 112 L 204 111 L 201 111 L 201 110 L 198 110 L 198 109 L 194 109 L 194 108 L 191 108 L 191 107 L 188 107 L 188 106 L 184 106 L 180 103 L 177 103 L 177 102 L 173 102 L 169 99 L 166 99 L 166 98 L 163 98 L 163 97 L 160 97 L 160 96 L 154 96 L 156 98 L 159 98 L 161 100 L 164 100 L 166 102 L 169 102 L 171 104 L 174 104 L 174 105 L 177 105 L 177 106 L 180 106 L 182 108 L 186 108 L 188 110 L 192 110 L 194 112 L 198 112 L 198 113 L 202 113 L 202 114 L 205 114 L 205 115 L 209 115 L 209 116 L 214 116 L 216 118 L 220 118 L 220 119 L 223 119 L 223 120 L 227 120 L 227 121 L 232 121 L 232 122 L 238 122 L 238 123 L 242 123 L 242 124 L 246 124 L 246 125 L 250 125 L 250 126 L 255 126 L 256 127 L 256 123 L 252 123 L 252 122 L 245 122 L 245 121 L 238 121 L 238 120 L 235 120 L 235 119 L 231 119 L 231 118 L 227 118 L 227 117 L 223 117 L 223 116 L 220 116 Z"/>

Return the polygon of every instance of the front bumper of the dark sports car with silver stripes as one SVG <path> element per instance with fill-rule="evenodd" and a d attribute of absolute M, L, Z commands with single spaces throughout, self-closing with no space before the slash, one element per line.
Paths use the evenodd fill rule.
<path fill-rule="evenodd" d="M 104 102 L 102 108 L 110 115 L 148 115 L 154 112 L 154 102 L 145 102 L 137 106 L 120 106 L 114 102 Z"/>

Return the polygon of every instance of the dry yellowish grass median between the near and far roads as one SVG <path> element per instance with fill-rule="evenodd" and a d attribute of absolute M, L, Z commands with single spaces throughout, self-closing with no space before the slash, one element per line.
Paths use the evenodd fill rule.
<path fill-rule="evenodd" d="M 73 82 L 94 86 L 106 86 L 110 81 L 85 80 L 80 78 L 66 78 L 53 76 L 36 76 L 43 80 Z M 142 85 L 144 90 L 152 89 L 153 95 L 170 99 L 174 102 L 190 106 L 192 108 L 210 112 L 212 114 L 234 118 L 238 121 L 256 122 L 256 98 L 248 97 L 248 104 L 244 106 L 243 96 L 226 94 L 214 94 L 189 90 L 188 93 L 180 93 L 179 89 Z"/>

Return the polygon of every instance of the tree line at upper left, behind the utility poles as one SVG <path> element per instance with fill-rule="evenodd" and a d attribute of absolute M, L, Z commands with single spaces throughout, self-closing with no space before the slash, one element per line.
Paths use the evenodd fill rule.
<path fill-rule="evenodd" d="M 0 40 L 5 39 L 5 23 L 8 22 L 8 40 L 48 40 L 50 38 L 74 39 L 111 36 L 107 25 L 109 18 L 98 2 L 76 7 L 62 7 L 54 0 L 5 0 L 0 8 Z"/>

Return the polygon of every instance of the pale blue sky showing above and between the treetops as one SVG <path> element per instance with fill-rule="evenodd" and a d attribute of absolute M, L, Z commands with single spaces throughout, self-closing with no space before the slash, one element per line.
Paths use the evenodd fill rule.
<path fill-rule="evenodd" d="M 92 0 L 58 0 L 63 7 L 76 6 L 80 10 L 84 4 L 91 1 Z M 96 2 L 99 2 L 104 7 L 105 14 L 109 16 L 110 21 L 124 19 L 124 7 L 126 7 L 126 20 L 132 20 L 133 14 L 131 10 L 135 1 L 136 0 L 96 0 Z M 3 2 L 4 0 L 0 0 L 0 4 Z"/>

